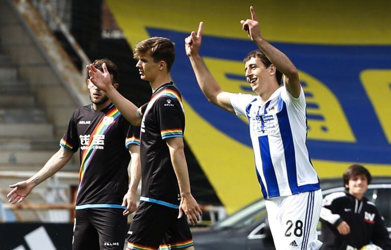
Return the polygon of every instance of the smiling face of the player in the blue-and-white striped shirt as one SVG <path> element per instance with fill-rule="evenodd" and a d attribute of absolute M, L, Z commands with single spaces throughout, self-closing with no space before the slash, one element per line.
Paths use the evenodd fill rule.
<path fill-rule="evenodd" d="M 244 71 L 247 82 L 257 95 L 265 92 L 270 87 L 270 84 L 277 84 L 274 65 L 266 68 L 258 57 L 249 58 L 245 62 Z"/>

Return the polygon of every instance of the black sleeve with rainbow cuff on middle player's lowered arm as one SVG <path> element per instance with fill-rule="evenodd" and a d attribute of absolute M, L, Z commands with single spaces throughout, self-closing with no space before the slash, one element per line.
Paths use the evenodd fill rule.
<path fill-rule="evenodd" d="M 163 140 L 183 137 L 185 114 L 181 102 L 172 97 L 161 97 L 156 101 L 156 120 Z"/>

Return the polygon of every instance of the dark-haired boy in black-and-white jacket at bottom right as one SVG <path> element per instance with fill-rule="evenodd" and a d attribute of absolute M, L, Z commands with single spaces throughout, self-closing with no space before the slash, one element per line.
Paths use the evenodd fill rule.
<path fill-rule="evenodd" d="M 375 204 L 364 197 L 372 177 L 358 164 L 343 174 L 346 192 L 337 192 L 323 199 L 320 212 L 322 249 L 361 249 L 372 242 L 382 249 L 391 249 L 391 240 L 383 218 Z"/>

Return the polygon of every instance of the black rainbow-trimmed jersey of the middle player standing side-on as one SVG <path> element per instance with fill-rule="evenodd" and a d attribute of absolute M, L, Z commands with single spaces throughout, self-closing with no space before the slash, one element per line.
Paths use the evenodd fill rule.
<path fill-rule="evenodd" d="M 166 139 L 183 137 L 185 114 L 173 83 L 157 88 L 139 108 L 141 122 L 141 201 L 178 208 L 180 192 Z"/>

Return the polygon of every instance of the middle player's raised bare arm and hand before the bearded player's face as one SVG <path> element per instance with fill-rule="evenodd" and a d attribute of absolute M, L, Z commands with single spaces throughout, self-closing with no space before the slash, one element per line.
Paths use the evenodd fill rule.
<path fill-rule="evenodd" d="M 91 82 L 106 93 L 126 120 L 131 122 L 134 126 L 140 126 L 141 118 L 137 114 L 137 106 L 124 98 L 111 84 L 110 73 L 107 70 L 106 64 L 103 64 L 102 68 L 103 73 L 100 70 L 97 70 L 92 64 L 87 65 Z"/>

